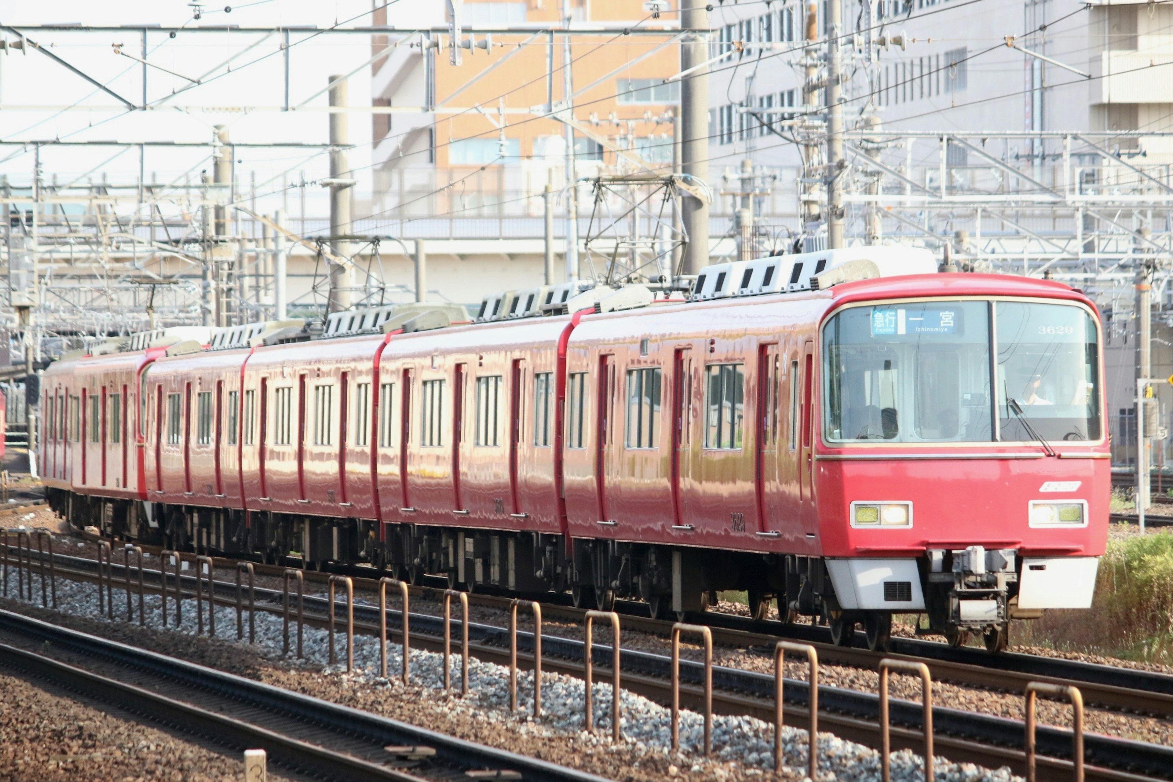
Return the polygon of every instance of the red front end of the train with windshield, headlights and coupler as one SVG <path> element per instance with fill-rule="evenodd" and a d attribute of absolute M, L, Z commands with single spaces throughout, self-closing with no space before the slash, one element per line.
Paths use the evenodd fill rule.
<path fill-rule="evenodd" d="M 1099 319 L 1070 288 L 1009 287 L 823 320 L 816 496 L 843 642 L 911 613 L 999 651 L 1010 619 L 1091 605 L 1110 494 Z"/>

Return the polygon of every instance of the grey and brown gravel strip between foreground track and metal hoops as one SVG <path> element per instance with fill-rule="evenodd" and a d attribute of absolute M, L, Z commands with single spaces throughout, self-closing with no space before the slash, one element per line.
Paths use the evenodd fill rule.
<path fill-rule="evenodd" d="M 15 578 L 12 577 L 12 587 Z M 9 591 L 13 596 L 15 589 Z M 534 721 L 533 674 L 518 673 L 516 713 L 508 710 L 508 668 L 476 660 L 469 661 L 469 695 L 461 698 L 460 655 L 450 660 L 453 691 L 443 691 L 442 655 L 434 652 L 413 650 L 411 655 L 411 681 L 405 687 L 394 673 L 401 667 L 400 647 L 388 642 L 387 665 L 392 678 L 379 675 L 379 644 L 375 638 L 355 635 L 354 671 L 345 672 L 346 637 L 335 635 L 335 652 L 339 664 L 330 665 L 327 633 L 306 626 L 304 630 L 305 660 L 283 660 L 283 623 L 279 616 L 258 612 L 256 614 L 256 645 L 248 644 L 248 617 L 245 617 L 245 640 L 236 640 L 236 610 L 216 608 L 218 639 L 195 638 L 197 618 L 195 600 L 184 600 L 183 625 L 175 626 L 175 608 L 171 605 L 169 627 L 164 628 L 160 612 L 158 596 L 147 598 L 147 627 L 138 628 L 138 617 L 134 625 L 127 625 L 126 594 L 114 592 L 115 621 L 99 617 L 96 586 L 57 579 L 59 611 L 39 607 L 40 589 L 34 589 L 32 604 L 5 600 L 6 607 L 18 606 L 26 613 L 53 616 L 56 620 L 66 617 L 65 624 L 79 630 L 107 632 L 120 640 L 143 646 L 165 645 L 167 653 L 205 665 L 213 665 L 236 673 L 245 673 L 271 684 L 306 694 L 357 706 L 371 712 L 409 721 L 422 727 L 442 730 L 453 735 L 473 739 L 482 743 L 502 747 L 522 754 L 542 757 L 551 762 L 581 768 L 616 780 L 643 781 L 663 780 L 665 776 L 691 776 L 692 778 L 741 780 L 775 778 L 773 774 L 773 726 L 746 716 L 714 715 L 712 744 L 713 754 L 700 754 L 704 719 L 690 710 L 680 713 L 682 752 L 670 749 L 670 712 L 667 708 L 621 691 L 621 729 L 623 739 L 612 742 L 610 737 L 611 687 L 596 684 L 591 688 L 596 732 L 584 726 L 584 685 L 556 673 L 542 676 L 541 720 Z M 137 606 L 137 598 L 135 598 Z M 341 616 L 343 612 L 339 611 Z M 87 619 L 82 619 L 87 618 Z M 79 626 L 84 625 L 84 627 Z M 104 627 L 103 627 L 104 626 Z M 206 630 L 206 623 L 205 623 Z M 154 632 L 152 632 L 154 631 Z M 599 644 L 608 642 L 609 633 L 601 633 Z M 130 640 L 134 637 L 137 640 Z M 181 639 L 190 644 L 184 648 Z M 291 645 L 296 628 L 291 627 Z M 147 641 L 147 642 L 143 642 Z M 454 650 L 457 645 L 454 644 Z M 160 650 L 163 651 L 163 650 Z M 255 661 L 248 672 L 239 665 L 223 665 L 225 658 L 236 655 Z M 242 654 L 243 653 L 243 654 Z M 217 661 L 221 664 L 217 665 Z M 778 778 L 802 778 L 807 757 L 807 733 L 784 727 L 785 770 Z M 880 778 L 879 753 L 861 744 L 843 741 L 830 734 L 819 735 L 820 781 L 860 780 L 872 782 Z M 894 753 L 891 756 L 893 778 L 913 782 L 922 780 L 922 760 L 911 752 Z M 951 763 L 938 759 L 936 780 L 943 782 L 1011 782 L 1015 777 L 1009 769 L 986 769 L 969 763 Z"/>

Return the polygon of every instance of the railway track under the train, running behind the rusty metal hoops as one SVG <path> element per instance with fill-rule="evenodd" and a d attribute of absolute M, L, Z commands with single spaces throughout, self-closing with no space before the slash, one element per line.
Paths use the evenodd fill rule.
<path fill-rule="evenodd" d="M 95 580 L 95 560 L 57 555 L 57 573 Z M 115 578 L 123 574 L 120 565 L 114 566 Z M 135 572 L 135 569 L 131 569 Z M 135 573 L 137 576 L 137 573 Z M 145 570 L 145 580 L 154 586 L 158 580 L 158 571 Z M 117 583 L 117 580 L 116 580 Z M 195 578 L 184 577 L 185 591 L 195 591 Z M 235 605 L 235 584 L 217 582 L 217 601 L 223 605 Z M 157 587 L 156 587 L 157 589 Z M 419 589 L 418 594 L 427 598 L 434 590 Z M 258 610 L 279 613 L 283 592 L 258 587 Z M 482 597 L 482 596 L 474 596 Z M 306 621 L 323 626 L 325 624 L 328 603 L 318 596 L 306 596 Z M 562 606 L 551 606 L 550 612 L 565 611 Z M 574 610 L 570 608 L 569 612 Z M 725 642 L 735 642 L 753 647 L 764 641 L 762 646 L 772 648 L 778 635 L 766 632 L 748 632 L 734 627 L 725 627 L 732 620 L 741 619 L 727 614 L 703 614 L 714 627 L 714 635 Z M 358 633 L 377 634 L 379 626 L 378 608 L 357 604 L 354 606 L 355 631 Z M 647 624 L 645 624 L 647 623 Z M 625 628 L 643 628 L 660 625 L 650 619 L 625 618 Z M 735 624 L 735 623 L 733 623 Z M 387 625 L 393 641 L 399 635 L 401 614 L 388 611 Z M 814 641 L 825 661 L 843 662 L 860 667 L 875 667 L 879 655 L 862 648 L 842 648 L 819 644 L 816 635 L 825 628 L 809 626 L 785 627 L 778 623 L 757 623 L 761 630 L 772 630 L 777 625 L 779 632 L 787 632 L 792 638 Z M 443 620 L 429 614 L 412 613 L 413 648 L 442 647 Z M 459 621 L 452 623 L 453 628 Z M 455 635 L 455 633 L 453 633 Z M 483 660 L 506 665 L 509 659 L 509 631 L 486 624 L 469 623 L 470 654 Z M 908 646 L 906 646 L 908 645 Z M 543 633 L 543 668 L 557 671 L 582 678 L 584 675 L 584 647 L 582 641 L 558 638 Z M 990 657 L 975 652 L 967 655 L 968 650 L 950 650 L 943 644 L 924 641 L 895 641 L 895 655 L 916 652 L 918 661 L 925 661 L 934 671 L 935 678 L 961 681 L 976 686 L 1022 692 L 1026 681 L 1053 681 L 1078 686 L 1089 703 L 1108 708 L 1144 710 L 1153 714 L 1173 714 L 1173 676 L 1151 674 L 1147 672 L 1112 668 L 1092 664 L 1032 658 L 1030 655 L 1006 654 Z M 517 633 L 518 661 L 521 667 L 533 665 L 534 637 L 531 633 Z M 933 653 L 928 653 L 933 652 Z M 603 680 L 610 676 L 611 651 L 603 645 L 595 645 L 592 660 L 595 675 Z M 971 665 L 954 655 L 970 659 L 982 659 L 985 665 Z M 670 689 L 670 660 L 662 654 L 652 654 L 635 650 L 622 650 L 621 671 L 623 686 L 653 700 L 665 702 Z M 680 671 L 682 702 L 699 707 L 703 703 L 704 666 L 699 662 L 682 661 Z M 748 714 L 765 720 L 772 720 L 774 714 L 774 679 L 771 675 L 735 668 L 713 668 L 713 708 L 718 713 Z M 786 718 L 795 727 L 805 727 L 808 719 L 807 705 L 809 688 L 801 681 L 786 681 Z M 820 686 L 819 719 L 823 729 L 843 739 L 872 747 L 880 744 L 879 699 L 870 693 L 848 691 L 836 687 Z M 908 747 L 917 750 L 921 747 L 922 712 L 918 703 L 893 701 L 891 719 L 893 742 L 896 747 Z M 933 720 L 936 730 L 937 753 L 960 762 L 974 762 L 988 767 L 1010 766 L 1016 770 L 1024 769 L 1023 723 L 998 716 L 975 714 L 960 709 L 934 707 Z M 1040 727 L 1038 734 L 1039 752 L 1045 757 L 1038 759 L 1040 778 L 1070 778 L 1071 774 L 1071 733 L 1057 728 Z M 1162 778 L 1173 780 L 1173 748 L 1157 744 L 1089 734 L 1085 736 L 1086 769 L 1089 780 L 1138 780 Z"/>

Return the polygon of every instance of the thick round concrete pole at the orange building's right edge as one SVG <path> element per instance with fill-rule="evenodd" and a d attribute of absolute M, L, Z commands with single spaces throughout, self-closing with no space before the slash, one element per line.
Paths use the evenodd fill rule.
<path fill-rule="evenodd" d="M 697 68 L 708 60 L 707 0 L 680 0 L 680 28 L 692 30 L 680 45 L 680 69 Z M 680 168 L 692 185 L 708 182 L 708 68 L 701 67 L 680 80 Z M 691 196 L 682 198 L 682 223 L 689 244 L 684 249 L 684 273 L 696 274 L 708 265 L 708 204 Z"/>

